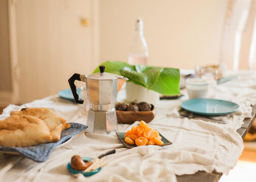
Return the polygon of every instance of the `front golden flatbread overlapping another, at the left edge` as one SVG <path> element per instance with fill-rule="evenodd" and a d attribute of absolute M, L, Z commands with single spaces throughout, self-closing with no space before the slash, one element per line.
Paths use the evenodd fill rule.
<path fill-rule="evenodd" d="M 0 120 L 0 146 L 29 147 L 52 141 L 49 127 L 37 117 L 10 116 Z"/>

